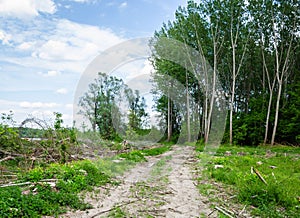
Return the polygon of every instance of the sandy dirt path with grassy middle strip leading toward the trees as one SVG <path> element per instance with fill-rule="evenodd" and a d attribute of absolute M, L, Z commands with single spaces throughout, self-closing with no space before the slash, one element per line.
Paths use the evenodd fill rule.
<path fill-rule="evenodd" d="M 119 186 L 86 197 L 93 209 L 62 217 L 207 217 L 211 209 L 193 180 L 193 154 L 191 146 L 173 146 L 149 157 L 119 178 Z"/>

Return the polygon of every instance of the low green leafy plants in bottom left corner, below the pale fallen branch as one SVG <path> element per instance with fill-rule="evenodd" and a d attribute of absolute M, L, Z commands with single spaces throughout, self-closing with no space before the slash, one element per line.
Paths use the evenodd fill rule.
<path fill-rule="evenodd" d="M 36 185 L 24 194 L 19 187 L 1 188 L 1 217 L 41 217 L 66 212 L 66 206 L 73 209 L 87 209 L 89 205 L 76 193 L 53 191 L 47 184 Z"/>

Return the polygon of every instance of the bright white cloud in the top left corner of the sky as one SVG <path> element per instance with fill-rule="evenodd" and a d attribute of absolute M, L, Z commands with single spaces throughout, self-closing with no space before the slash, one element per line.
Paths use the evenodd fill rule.
<path fill-rule="evenodd" d="M 40 13 L 54 14 L 56 5 L 52 0 L 0 0 L 0 16 L 32 18 Z"/>

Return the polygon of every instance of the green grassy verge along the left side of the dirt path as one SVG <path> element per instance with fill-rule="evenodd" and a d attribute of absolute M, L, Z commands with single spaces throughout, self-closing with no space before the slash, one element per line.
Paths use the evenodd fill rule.
<path fill-rule="evenodd" d="M 162 154 L 170 146 L 133 150 L 112 158 L 53 163 L 20 173 L 16 186 L 0 187 L 0 217 L 58 216 L 70 209 L 91 207 L 79 196 L 94 186 L 117 184 L 116 175 L 146 161 L 145 156 Z M 9 164 L 9 163 L 8 163 Z"/>

